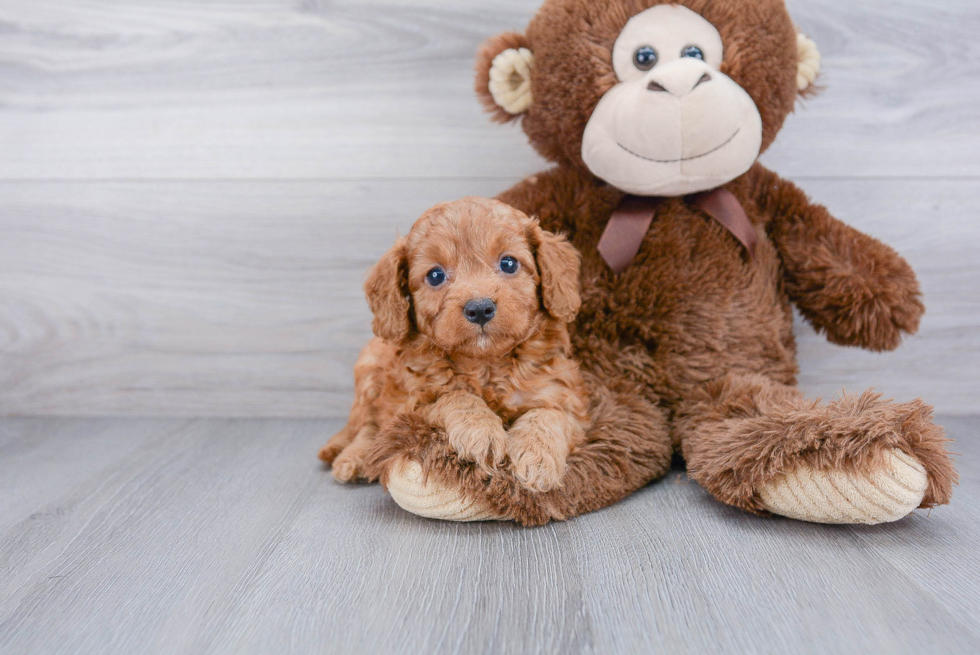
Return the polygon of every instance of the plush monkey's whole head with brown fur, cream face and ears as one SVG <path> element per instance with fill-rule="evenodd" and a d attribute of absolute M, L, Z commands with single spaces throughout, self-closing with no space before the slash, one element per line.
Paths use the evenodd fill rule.
<path fill-rule="evenodd" d="M 784 0 L 545 0 L 484 43 L 476 89 L 546 159 L 681 196 L 748 171 L 819 67 Z"/>

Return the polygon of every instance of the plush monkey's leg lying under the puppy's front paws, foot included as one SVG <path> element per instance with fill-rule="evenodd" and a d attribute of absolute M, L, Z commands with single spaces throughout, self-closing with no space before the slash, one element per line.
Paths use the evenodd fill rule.
<path fill-rule="evenodd" d="M 535 493 L 508 469 L 488 473 L 461 461 L 445 433 L 418 415 L 386 426 L 367 471 L 404 509 L 444 520 L 541 525 L 611 505 L 670 469 L 670 434 L 663 412 L 636 385 L 610 388 L 585 377 L 592 427 L 585 443 L 568 454 L 558 489 Z"/>

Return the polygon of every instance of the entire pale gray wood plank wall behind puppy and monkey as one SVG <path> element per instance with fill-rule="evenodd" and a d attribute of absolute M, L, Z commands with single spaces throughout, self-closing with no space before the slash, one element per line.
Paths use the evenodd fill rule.
<path fill-rule="evenodd" d="M 472 88 L 538 0 L 0 0 L 0 414 L 342 416 L 364 271 L 545 167 Z M 770 167 L 896 246 L 921 333 L 800 324 L 813 395 L 980 409 L 980 5 L 791 0 L 824 56 Z"/>

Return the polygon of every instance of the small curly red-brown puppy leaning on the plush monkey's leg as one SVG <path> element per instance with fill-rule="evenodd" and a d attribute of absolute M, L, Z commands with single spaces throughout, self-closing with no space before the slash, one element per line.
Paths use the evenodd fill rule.
<path fill-rule="evenodd" d="M 371 480 L 385 426 L 417 413 L 461 460 L 509 465 L 532 491 L 561 485 L 588 426 L 569 359 L 579 254 L 509 205 L 466 198 L 426 212 L 371 270 L 372 339 L 347 425 L 320 451 L 342 482 Z"/>

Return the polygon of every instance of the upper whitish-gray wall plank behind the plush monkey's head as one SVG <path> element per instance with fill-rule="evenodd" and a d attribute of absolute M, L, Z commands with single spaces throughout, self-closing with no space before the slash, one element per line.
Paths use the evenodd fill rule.
<path fill-rule="evenodd" d="M 472 92 L 539 0 L 0 2 L 0 177 L 489 177 L 541 168 Z M 825 93 L 786 175 L 980 175 L 974 0 L 792 0 Z M 476 153 L 477 156 L 473 156 Z"/>

